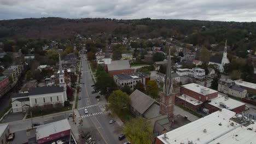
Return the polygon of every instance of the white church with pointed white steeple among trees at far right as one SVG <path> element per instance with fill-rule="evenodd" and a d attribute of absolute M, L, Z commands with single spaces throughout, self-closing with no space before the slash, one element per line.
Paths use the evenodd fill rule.
<path fill-rule="evenodd" d="M 208 64 L 215 64 L 215 65 L 217 65 L 217 68 L 219 69 L 219 71 L 221 73 L 223 73 L 224 65 L 230 63 L 227 55 L 228 55 L 228 52 L 226 51 L 226 44 L 225 44 L 224 52 L 223 52 L 223 57 L 211 56 L 210 57 L 210 62 Z"/>

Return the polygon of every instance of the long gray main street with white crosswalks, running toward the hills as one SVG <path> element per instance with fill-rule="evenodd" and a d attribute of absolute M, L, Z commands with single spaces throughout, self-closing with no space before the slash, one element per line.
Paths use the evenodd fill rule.
<path fill-rule="evenodd" d="M 95 98 L 98 93 L 92 94 L 94 90 L 91 85 L 94 84 L 92 76 L 89 71 L 88 62 L 85 55 L 82 56 L 82 71 L 81 71 L 81 92 L 79 97 L 82 99 L 78 102 L 78 111 L 80 117 L 83 119 L 83 125 L 79 126 L 83 131 L 90 132 L 97 143 L 123 143 L 124 141 L 119 141 L 118 136 L 121 134 L 119 132 L 120 127 L 117 123 L 109 124 L 109 120 L 112 119 L 108 116 L 107 112 L 104 112 Z M 101 97 L 102 101 L 106 101 Z M 88 110 L 88 114 L 85 114 L 84 109 Z"/>

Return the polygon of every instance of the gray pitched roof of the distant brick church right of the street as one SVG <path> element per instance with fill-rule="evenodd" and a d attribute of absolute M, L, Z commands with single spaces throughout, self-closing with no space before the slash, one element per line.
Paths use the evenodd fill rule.
<path fill-rule="evenodd" d="M 112 61 L 108 64 L 108 71 L 131 69 L 129 60 Z"/>

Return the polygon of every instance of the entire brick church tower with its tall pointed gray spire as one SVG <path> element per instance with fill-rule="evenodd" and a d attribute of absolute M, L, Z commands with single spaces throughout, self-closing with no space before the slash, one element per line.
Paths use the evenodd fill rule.
<path fill-rule="evenodd" d="M 168 118 L 174 118 L 174 91 L 172 82 L 172 61 L 169 49 L 168 61 L 166 65 L 165 83 L 163 91 L 160 93 L 160 111 L 161 115 L 167 115 Z"/>

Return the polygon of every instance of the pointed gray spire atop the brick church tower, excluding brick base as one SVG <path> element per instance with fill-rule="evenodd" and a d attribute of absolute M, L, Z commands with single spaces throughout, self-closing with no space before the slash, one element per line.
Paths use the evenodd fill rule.
<path fill-rule="evenodd" d="M 165 95 L 173 94 L 173 83 L 172 83 L 172 61 L 171 61 L 171 52 L 169 49 L 168 61 L 166 65 L 166 73 L 165 73 L 165 83 L 163 88 L 163 93 Z"/>

